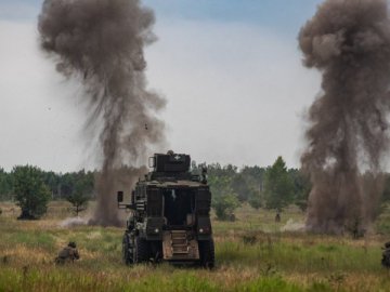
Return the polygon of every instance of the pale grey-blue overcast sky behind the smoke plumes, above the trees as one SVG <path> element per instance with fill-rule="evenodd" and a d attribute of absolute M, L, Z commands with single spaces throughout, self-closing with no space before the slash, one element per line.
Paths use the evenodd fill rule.
<path fill-rule="evenodd" d="M 0 0 L 0 167 L 94 168 L 82 90 L 38 48 L 41 2 Z M 146 75 L 168 99 L 170 148 L 197 162 L 269 165 L 283 156 L 299 167 L 303 117 L 321 79 L 302 67 L 297 35 L 320 2 L 144 0 L 158 36 Z"/>

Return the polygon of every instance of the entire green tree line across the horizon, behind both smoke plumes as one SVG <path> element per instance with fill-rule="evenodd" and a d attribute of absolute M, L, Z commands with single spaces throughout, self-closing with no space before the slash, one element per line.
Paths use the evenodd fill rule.
<path fill-rule="evenodd" d="M 234 210 L 243 203 L 282 212 L 289 204 L 302 211 L 311 190 L 309 177 L 299 169 L 288 169 L 282 157 L 266 168 L 221 165 L 192 162 L 191 171 L 207 169 L 212 193 L 211 207 L 219 220 L 234 220 Z M 0 168 L 0 200 L 15 200 L 22 218 L 40 217 L 50 200 L 68 200 L 76 214 L 95 198 L 98 171 L 55 173 L 32 165 L 17 165 L 6 172 Z M 390 201 L 390 174 L 385 174 L 382 202 Z"/>

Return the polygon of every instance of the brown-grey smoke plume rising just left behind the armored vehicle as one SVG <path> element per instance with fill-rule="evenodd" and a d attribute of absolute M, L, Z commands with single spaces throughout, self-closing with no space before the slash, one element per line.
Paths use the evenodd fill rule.
<path fill-rule="evenodd" d="M 93 224 L 121 224 L 113 195 L 120 185 L 131 188 L 151 147 L 165 142 L 155 115 L 165 99 L 146 90 L 144 76 L 153 24 L 153 12 L 139 0 L 46 0 L 39 16 L 41 48 L 55 57 L 57 71 L 83 84 L 86 131 L 99 133 Z"/>

